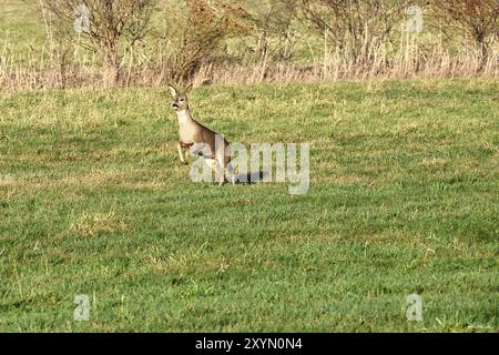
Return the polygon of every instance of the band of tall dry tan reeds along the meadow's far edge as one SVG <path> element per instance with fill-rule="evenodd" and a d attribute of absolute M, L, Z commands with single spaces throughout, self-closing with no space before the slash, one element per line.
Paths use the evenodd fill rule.
<path fill-rule="evenodd" d="M 254 84 L 261 82 L 317 82 L 340 79 L 404 79 L 404 78 L 499 78 L 499 43 L 481 65 L 481 50 L 466 44 L 457 52 L 446 49 L 435 39 L 428 44 L 417 34 L 401 32 L 397 45 L 384 42 L 369 48 L 369 62 L 357 63 L 338 49 L 324 45 L 322 55 L 314 55 L 309 65 L 275 62 L 267 51 L 259 58 L 242 63 L 212 62 L 203 64 L 192 80 L 196 84 Z M 322 58 L 322 61 L 318 60 Z M 244 62 L 244 64 L 243 64 Z M 128 52 L 122 67 L 120 87 L 163 87 L 172 78 L 167 52 L 146 57 Z M 28 55 L 16 53 L 14 45 L 4 39 L 0 52 L 0 91 L 31 91 L 40 89 L 102 88 L 105 72 L 96 57 L 79 51 L 78 45 L 62 50 L 49 43 Z"/>

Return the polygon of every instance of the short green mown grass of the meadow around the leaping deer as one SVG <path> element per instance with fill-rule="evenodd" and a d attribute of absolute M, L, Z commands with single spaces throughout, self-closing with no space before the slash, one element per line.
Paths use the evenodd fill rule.
<path fill-rule="evenodd" d="M 191 182 L 159 90 L 3 95 L 0 331 L 496 332 L 498 89 L 193 92 L 232 142 L 309 142 L 302 196 Z"/>

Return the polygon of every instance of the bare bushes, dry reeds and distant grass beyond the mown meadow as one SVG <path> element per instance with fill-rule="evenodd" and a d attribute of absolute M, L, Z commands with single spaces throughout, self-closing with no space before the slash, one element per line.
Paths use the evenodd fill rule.
<path fill-rule="evenodd" d="M 2 2 L 3 90 L 499 72 L 495 0 Z M 421 32 L 408 28 L 416 6 Z"/>

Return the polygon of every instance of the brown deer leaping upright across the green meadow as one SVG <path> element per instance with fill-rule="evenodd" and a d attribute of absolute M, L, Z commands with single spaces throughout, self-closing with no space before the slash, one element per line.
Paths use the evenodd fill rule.
<path fill-rule="evenodd" d="M 191 92 L 192 84 L 184 92 L 179 92 L 173 85 L 169 84 L 173 97 L 172 108 L 179 119 L 179 151 L 180 161 L 187 164 L 184 150 L 190 150 L 193 155 L 202 155 L 205 162 L 213 169 L 218 185 L 228 178 L 235 184 L 235 175 L 231 163 L 231 152 L 228 142 L 218 133 L 210 130 L 200 122 L 195 121 L 191 114 L 187 94 Z"/>

